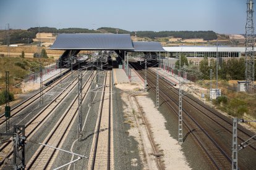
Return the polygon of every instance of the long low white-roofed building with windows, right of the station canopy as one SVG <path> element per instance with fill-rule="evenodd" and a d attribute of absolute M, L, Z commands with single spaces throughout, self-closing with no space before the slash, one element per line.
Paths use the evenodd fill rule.
<path fill-rule="evenodd" d="M 169 53 L 170 57 L 179 57 L 179 54 L 185 54 L 187 57 L 209 57 L 216 58 L 216 46 L 177 46 L 163 47 Z M 241 57 L 245 53 L 245 47 L 223 47 L 218 46 L 218 57 Z"/>

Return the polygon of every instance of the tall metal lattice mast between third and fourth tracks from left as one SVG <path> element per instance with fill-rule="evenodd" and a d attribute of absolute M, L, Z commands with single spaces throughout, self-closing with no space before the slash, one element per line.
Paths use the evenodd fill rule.
<path fill-rule="evenodd" d="M 82 139 L 82 100 L 83 100 L 83 93 L 82 93 L 82 84 L 83 84 L 83 72 L 79 70 L 79 78 L 78 78 L 78 113 L 79 113 L 79 121 L 78 121 L 78 137 L 77 139 L 81 141 Z"/>

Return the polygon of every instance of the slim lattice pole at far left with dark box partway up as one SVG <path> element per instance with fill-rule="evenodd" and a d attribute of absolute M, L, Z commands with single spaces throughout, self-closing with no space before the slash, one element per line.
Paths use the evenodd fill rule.
<path fill-rule="evenodd" d="M 9 71 L 6 71 L 6 108 L 5 108 L 4 115 L 6 116 L 6 132 L 9 132 L 10 131 L 10 117 L 11 117 Z"/>

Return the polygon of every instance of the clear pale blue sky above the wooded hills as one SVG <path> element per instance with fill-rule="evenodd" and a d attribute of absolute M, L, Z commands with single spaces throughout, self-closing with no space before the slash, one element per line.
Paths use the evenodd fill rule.
<path fill-rule="evenodd" d="M 109 26 L 129 31 L 244 34 L 246 1 L 0 0 L 0 29 L 9 23 L 12 29 Z"/>

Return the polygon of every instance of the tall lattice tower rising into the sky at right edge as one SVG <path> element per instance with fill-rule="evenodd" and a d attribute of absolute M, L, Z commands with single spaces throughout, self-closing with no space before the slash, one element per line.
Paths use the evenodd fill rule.
<path fill-rule="evenodd" d="M 247 0 L 247 22 L 245 26 L 245 90 L 254 85 L 254 1 Z"/>

